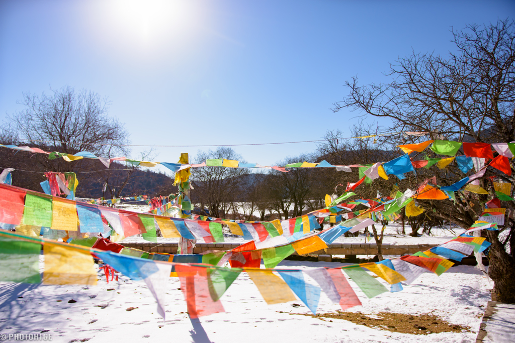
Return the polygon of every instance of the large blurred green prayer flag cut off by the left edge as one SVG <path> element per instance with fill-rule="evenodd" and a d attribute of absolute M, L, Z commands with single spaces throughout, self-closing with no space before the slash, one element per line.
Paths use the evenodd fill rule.
<path fill-rule="evenodd" d="M 0 281 L 40 283 L 40 243 L 0 236 Z"/>

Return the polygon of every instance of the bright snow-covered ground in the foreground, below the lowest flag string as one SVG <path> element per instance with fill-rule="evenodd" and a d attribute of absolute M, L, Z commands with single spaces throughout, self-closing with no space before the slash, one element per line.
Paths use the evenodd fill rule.
<path fill-rule="evenodd" d="M 43 257 L 42 257 L 43 258 Z M 308 269 L 338 262 L 283 261 L 278 268 Z M 302 304 L 267 305 L 258 288 L 242 273 L 222 296 L 226 313 L 190 320 L 186 302 L 178 290 L 178 278 L 170 278 L 166 291 L 166 321 L 157 313 L 156 301 L 143 281 L 119 276 L 106 283 L 99 272 L 96 286 L 0 283 L 0 334 L 36 334 L 45 331 L 55 342 L 474 342 L 492 285 L 471 266 L 457 266 L 440 277 L 424 273 L 399 293 L 383 293 L 368 299 L 350 280 L 363 306 L 348 311 L 374 314 L 432 313 L 470 332 L 411 335 L 373 329 L 342 319 L 333 322 L 290 315 L 310 313 Z M 307 275 L 306 281 L 310 282 Z M 111 290 L 111 291 L 109 291 Z M 74 300 L 76 302 L 68 303 Z M 136 308 L 126 311 L 128 308 Z M 331 313 L 339 306 L 322 292 L 317 313 Z M 280 311 L 285 313 L 280 313 Z M 48 331 L 47 331 L 48 330 Z M 9 341 L 9 340 L 5 340 Z"/>

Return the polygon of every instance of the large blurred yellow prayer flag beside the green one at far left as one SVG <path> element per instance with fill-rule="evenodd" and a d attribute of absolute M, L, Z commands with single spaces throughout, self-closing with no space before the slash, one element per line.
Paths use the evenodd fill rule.
<path fill-rule="evenodd" d="M 89 251 L 45 243 L 44 284 L 96 285 L 97 275 Z"/>

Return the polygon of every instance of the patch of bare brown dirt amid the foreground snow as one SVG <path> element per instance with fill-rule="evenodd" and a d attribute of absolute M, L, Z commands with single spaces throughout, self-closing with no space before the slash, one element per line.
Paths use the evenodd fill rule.
<path fill-rule="evenodd" d="M 279 311 L 281 313 L 286 313 Z M 462 332 L 470 331 L 469 327 L 462 327 L 451 324 L 432 314 L 409 315 L 403 313 L 380 312 L 372 315 L 365 315 L 361 312 L 343 312 L 323 314 L 289 313 L 290 315 L 301 315 L 317 318 L 323 321 L 331 319 L 344 319 L 358 325 L 365 325 L 370 328 L 386 330 L 391 332 L 408 333 L 413 335 L 427 335 L 440 332 Z"/>

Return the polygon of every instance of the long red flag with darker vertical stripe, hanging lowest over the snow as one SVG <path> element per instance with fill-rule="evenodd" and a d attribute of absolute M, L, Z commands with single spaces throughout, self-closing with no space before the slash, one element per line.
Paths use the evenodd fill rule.
<path fill-rule="evenodd" d="M 208 268 L 177 265 L 175 269 L 181 280 L 181 291 L 190 318 L 225 312 L 220 300 L 214 301 L 211 297 Z"/>

